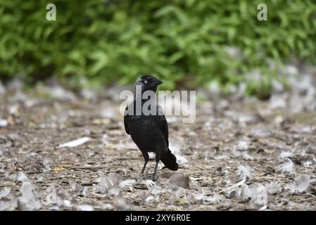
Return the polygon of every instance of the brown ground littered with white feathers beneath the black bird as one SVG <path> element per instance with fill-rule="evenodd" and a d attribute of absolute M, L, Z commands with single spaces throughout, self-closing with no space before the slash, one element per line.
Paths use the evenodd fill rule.
<path fill-rule="evenodd" d="M 316 210 L 315 111 L 199 101 L 193 124 L 168 117 L 180 168 L 153 182 L 118 101 L 49 91 L 0 98 L 0 210 Z"/>

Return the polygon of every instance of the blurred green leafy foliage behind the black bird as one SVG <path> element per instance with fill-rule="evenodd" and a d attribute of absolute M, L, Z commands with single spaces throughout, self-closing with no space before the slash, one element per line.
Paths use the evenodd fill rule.
<path fill-rule="evenodd" d="M 248 94 L 255 94 L 270 91 L 267 60 L 295 56 L 315 63 L 313 0 L 264 1 L 267 21 L 257 20 L 261 0 L 55 0 L 57 20 L 47 21 L 49 3 L 1 0 L 1 78 L 32 82 L 56 75 L 80 84 L 87 77 L 103 85 L 151 73 L 170 88 L 211 80 L 225 87 L 260 70 L 263 80 L 247 82 Z M 232 56 L 227 48 L 240 53 Z"/>

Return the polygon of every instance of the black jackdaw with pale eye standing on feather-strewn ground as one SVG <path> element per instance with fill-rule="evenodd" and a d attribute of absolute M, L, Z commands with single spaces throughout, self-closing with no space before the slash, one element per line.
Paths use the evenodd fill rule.
<path fill-rule="evenodd" d="M 145 160 L 140 176 L 144 175 L 144 171 L 149 159 L 148 153 L 156 153 L 156 166 L 152 176 L 153 181 L 158 179 L 156 173 L 158 162 L 160 160 L 168 169 L 174 171 L 178 169 L 177 158 L 171 153 L 169 149 L 168 122 L 165 120 L 165 115 L 163 115 L 162 108 L 160 105 L 158 105 L 158 103 L 156 103 L 155 93 L 157 91 L 157 86 L 162 83 L 163 82 L 156 77 L 149 75 L 145 75 L 137 79 L 137 82 L 135 83 L 134 101 L 130 103 L 127 108 L 125 108 L 124 115 L 125 131 L 132 137 L 132 140 L 134 143 L 136 143 L 139 150 L 141 150 Z M 137 94 L 136 91 L 137 87 L 141 89 L 139 94 Z M 145 91 L 151 92 L 151 98 L 141 98 Z M 136 106 L 139 104 L 136 102 L 139 99 L 141 99 L 141 101 L 139 101 L 141 102 L 141 107 L 145 103 L 152 103 L 151 105 L 154 105 L 156 108 L 156 114 L 154 113 L 153 115 L 148 115 L 141 111 L 140 115 L 136 115 Z M 151 109 L 151 107 L 148 108 Z"/>

